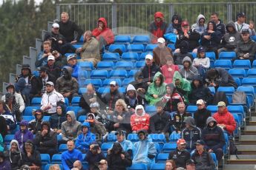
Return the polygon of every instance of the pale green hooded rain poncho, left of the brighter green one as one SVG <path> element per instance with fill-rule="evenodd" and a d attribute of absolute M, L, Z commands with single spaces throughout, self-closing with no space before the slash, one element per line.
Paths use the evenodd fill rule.
<path fill-rule="evenodd" d="M 161 79 L 160 86 L 157 86 L 155 83 L 158 77 Z M 161 72 L 157 72 L 154 75 L 153 83 L 148 86 L 148 91 L 145 94 L 145 99 L 148 101 L 149 105 L 154 105 L 154 103 L 157 103 L 157 101 L 161 101 L 163 95 L 165 95 L 166 89 L 164 79 L 165 78 Z M 153 95 L 158 95 L 158 98 L 154 98 Z"/>

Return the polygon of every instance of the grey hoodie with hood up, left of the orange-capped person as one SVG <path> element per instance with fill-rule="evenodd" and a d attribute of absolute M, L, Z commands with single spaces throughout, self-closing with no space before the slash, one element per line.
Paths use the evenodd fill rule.
<path fill-rule="evenodd" d="M 68 120 L 62 123 L 62 140 L 76 140 L 81 132 L 81 123 L 76 121 L 76 115 L 73 111 L 68 111 L 66 115 L 70 115 L 72 121 Z"/>

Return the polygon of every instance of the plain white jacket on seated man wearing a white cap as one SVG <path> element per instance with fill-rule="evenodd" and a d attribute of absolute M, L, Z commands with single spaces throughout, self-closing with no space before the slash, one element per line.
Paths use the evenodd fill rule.
<path fill-rule="evenodd" d="M 45 92 L 44 95 L 42 95 L 41 109 L 45 110 L 45 106 L 50 104 L 51 108 L 47 109 L 47 113 L 49 114 L 56 113 L 58 101 L 65 102 L 65 99 L 63 95 L 60 94 L 59 92 L 56 92 L 55 89 L 53 89 L 53 92 L 50 92 L 50 94 L 47 94 L 47 92 Z"/>

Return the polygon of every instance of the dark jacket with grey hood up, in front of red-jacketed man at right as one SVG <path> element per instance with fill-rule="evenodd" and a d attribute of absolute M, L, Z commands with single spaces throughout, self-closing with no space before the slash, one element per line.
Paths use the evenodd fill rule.
<path fill-rule="evenodd" d="M 214 126 L 210 127 L 209 123 L 214 121 Z M 223 129 L 217 126 L 217 121 L 210 117 L 207 119 L 207 126 L 202 131 L 202 139 L 206 142 L 206 149 L 223 149 L 225 137 Z"/>

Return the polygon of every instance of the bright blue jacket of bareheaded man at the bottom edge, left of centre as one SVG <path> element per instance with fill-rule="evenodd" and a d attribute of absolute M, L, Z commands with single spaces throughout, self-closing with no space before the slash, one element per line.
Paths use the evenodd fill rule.
<path fill-rule="evenodd" d="M 73 163 L 76 160 L 80 160 L 82 162 L 82 153 L 73 149 L 73 151 L 65 151 L 62 153 L 62 165 L 64 170 L 70 170 L 73 168 Z"/>

